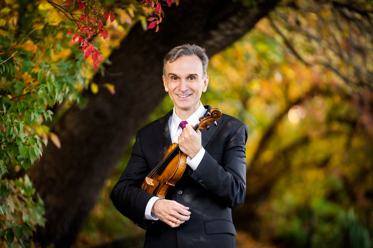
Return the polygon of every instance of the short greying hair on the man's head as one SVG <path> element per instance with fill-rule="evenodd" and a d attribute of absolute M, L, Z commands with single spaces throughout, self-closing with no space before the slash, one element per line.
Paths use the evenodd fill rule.
<path fill-rule="evenodd" d="M 171 51 L 166 54 L 163 59 L 163 75 L 166 76 L 166 63 L 169 61 L 172 63 L 176 59 L 184 56 L 193 56 L 196 55 L 198 58 L 201 59 L 202 62 L 202 78 L 206 77 L 207 75 L 207 66 L 209 65 L 209 57 L 207 57 L 206 50 L 201 48 L 198 45 L 181 45 L 172 48 Z"/>

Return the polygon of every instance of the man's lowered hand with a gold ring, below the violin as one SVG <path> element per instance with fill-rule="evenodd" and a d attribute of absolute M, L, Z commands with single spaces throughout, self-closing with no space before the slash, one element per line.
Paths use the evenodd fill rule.
<path fill-rule="evenodd" d="M 158 219 L 171 227 L 178 227 L 186 220 L 189 220 L 191 212 L 188 210 L 189 207 L 166 199 L 156 200 L 151 208 L 151 212 L 154 213 Z"/>

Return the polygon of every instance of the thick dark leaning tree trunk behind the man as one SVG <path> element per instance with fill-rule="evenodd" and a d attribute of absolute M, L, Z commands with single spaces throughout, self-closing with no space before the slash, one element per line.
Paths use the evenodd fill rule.
<path fill-rule="evenodd" d="M 43 247 L 69 247 L 93 207 L 135 131 L 165 96 L 162 60 L 173 47 L 185 43 L 206 48 L 211 57 L 247 33 L 273 9 L 277 1 L 182 0 L 165 7 L 159 32 L 144 32 L 138 23 L 110 56 L 97 84 L 115 85 L 116 94 L 85 92 L 83 109 L 73 106 L 54 127 L 62 147 L 51 142 L 28 174 L 44 200 L 46 227 L 35 233 Z"/>

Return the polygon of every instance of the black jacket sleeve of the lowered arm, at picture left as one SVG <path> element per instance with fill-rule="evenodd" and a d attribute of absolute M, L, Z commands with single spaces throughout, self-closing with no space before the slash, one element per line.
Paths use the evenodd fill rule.
<path fill-rule="evenodd" d="M 153 194 L 140 189 L 142 180 L 149 173 L 149 167 L 141 148 L 139 136 L 138 131 L 131 158 L 119 181 L 115 184 L 110 199 L 122 215 L 131 219 L 137 226 L 146 229 L 151 221 L 144 219 L 144 213 Z"/>

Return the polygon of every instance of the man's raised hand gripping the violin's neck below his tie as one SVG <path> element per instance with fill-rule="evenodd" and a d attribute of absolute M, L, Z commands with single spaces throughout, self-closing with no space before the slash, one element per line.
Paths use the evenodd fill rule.
<path fill-rule="evenodd" d="M 192 125 L 186 124 L 179 136 L 179 147 L 190 158 L 194 158 L 202 147 L 201 132 L 194 131 Z"/>

